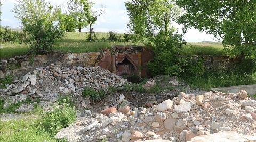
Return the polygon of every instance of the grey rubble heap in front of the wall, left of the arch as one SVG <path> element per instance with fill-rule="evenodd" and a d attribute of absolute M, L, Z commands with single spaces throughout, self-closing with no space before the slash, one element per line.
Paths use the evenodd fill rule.
<path fill-rule="evenodd" d="M 12 103 L 24 101 L 27 96 L 33 99 L 40 98 L 43 100 L 42 104 L 45 104 L 57 101 L 59 94 L 73 94 L 81 98 L 86 86 L 101 90 L 109 86 L 122 87 L 129 82 L 100 66 L 69 69 L 52 64 L 37 68 L 23 76 L 22 80 L 13 83 L 7 85 L 5 90 L 0 90 L 0 96 L 7 97 L 5 108 Z"/>

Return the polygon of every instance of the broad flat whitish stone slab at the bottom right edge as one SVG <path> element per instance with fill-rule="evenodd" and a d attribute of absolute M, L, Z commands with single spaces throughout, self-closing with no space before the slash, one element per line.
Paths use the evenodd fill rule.
<path fill-rule="evenodd" d="M 226 132 L 218 132 L 211 135 L 203 135 L 203 136 L 196 136 L 188 142 L 196 142 L 196 141 L 207 141 L 207 142 L 215 142 L 215 141 L 225 141 L 225 142 L 245 142 L 245 141 L 256 141 L 256 136 L 250 135 L 243 135 L 238 134 L 237 132 L 233 131 L 226 131 Z"/>

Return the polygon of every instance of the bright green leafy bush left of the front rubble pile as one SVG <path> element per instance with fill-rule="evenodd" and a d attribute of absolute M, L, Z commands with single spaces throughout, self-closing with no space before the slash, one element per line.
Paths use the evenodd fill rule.
<path fill-rule="evenodd" d="M 76 111 L 68 104 L 59 106 L 53 111 L 46 112 L 42 118 L 42 124 L 46 131 L 50 132 L 52 137 L 55 137 L 57 132 L 68 127 L 76 120 Z"/>

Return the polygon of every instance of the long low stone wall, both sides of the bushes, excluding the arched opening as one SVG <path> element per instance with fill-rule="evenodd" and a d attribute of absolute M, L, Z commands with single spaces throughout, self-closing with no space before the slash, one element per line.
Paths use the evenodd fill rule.
<path fill-rule="evenodd" d="M 147 76 L 146 63 L 153 55 L 151 50 L 145 49 L 143 52 L 137 53 L 118 53 L 113 54 L 111 51 L 92 52 L 81 54 L 51 54 L 36 56 L 15 56 L 7 60 L 0 60 L 0 78 L 7 75 L 14 75 L 21 78 L 29 71 L 33 71 L 37 67 L 49 66 L 50 64 L 62 65 L 66 67 L 72 66 L 101 66 L 111 72 L 116 73 L 116 66 L 121 63 L 124 58 L 128 58 L 135 67 L 135 72 L 142 77 Z M 194 58 L 202 58 L 205 60 L 207 68 L 225 68 L 232 66 L 234 58 L 227 56 L 193 56 Z M 125 67 L 125 66 L 121 66 Z"/>

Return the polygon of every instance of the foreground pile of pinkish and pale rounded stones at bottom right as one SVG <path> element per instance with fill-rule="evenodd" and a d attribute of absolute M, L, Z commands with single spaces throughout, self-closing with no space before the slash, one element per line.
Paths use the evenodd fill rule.
<path fill-rule="evenodd" d="M 86 110 L 56 135 L 68 141 L 256 141 L 256 100 L 246 91 L 202 95 L 180 93 L 149 108 L 130 110 L 121 95 L 117 107 Z"/>

